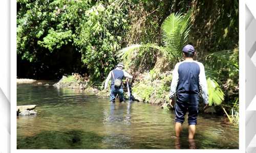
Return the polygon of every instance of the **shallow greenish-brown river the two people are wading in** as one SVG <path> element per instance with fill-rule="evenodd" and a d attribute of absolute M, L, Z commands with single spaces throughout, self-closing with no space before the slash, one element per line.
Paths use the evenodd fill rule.
<path fill-rule="evenodd" d="M 109 103 L 82 90 L 17 85 L 17 105 L 37 105 L 17 118 L 18 149 L 238 149 L 239 129 L 225 117 L 199 114 L 195 141 L 174 137 L 175 114 L 142 102 Z M 186 118 L 187 119 L 187 118 Z"/>

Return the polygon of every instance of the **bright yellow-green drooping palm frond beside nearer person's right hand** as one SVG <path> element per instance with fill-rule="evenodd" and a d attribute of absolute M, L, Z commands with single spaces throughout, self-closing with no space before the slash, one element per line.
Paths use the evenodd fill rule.
<path fill-rule="evenodd" d="M 220 85 L 213 79 L 207 78 L 209 106 L 218 106 L 224 100 L 224 93 L 220 88 Z"/>

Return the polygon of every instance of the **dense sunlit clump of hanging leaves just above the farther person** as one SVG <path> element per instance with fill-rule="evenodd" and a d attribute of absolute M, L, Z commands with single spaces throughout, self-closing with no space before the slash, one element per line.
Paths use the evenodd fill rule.
<path fill-rule="evenodd" d="M 117 60 L 121 37 L 127 29 L 125 7 L 119 1 L 103 6 L 97 3 L 84 13 L 75 39 L 82 53 L 82 62 L 88 66 L 93 78 L 103 78 Z"/>

